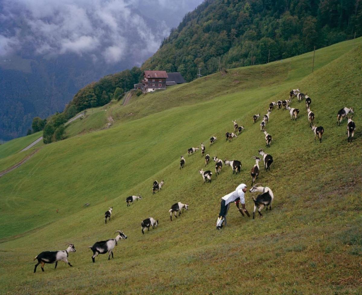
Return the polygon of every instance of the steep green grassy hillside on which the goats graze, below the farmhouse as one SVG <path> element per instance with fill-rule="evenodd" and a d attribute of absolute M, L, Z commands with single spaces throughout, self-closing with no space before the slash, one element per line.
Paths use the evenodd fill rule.
<path fill-rule="evenodd" d="M 245 90 L 225 87 L 215 95 L 193 98 L 193 89 L 211 91 L 209 86 L 222 85 L 215 74 L 204 82 L 141 96 L 123 108 L 114 107 L 119 114 L 114 127 L 43 147 L 0 178 L 1 291 L 360 294 L 360 42 L 356 40 L 354 48 L 351 41 L 319 50 L 317 60 L 324 61 L 310 75 L 310 58 L 304 55 L 288 61 L 288 71 L 277 70 L 280 62 L 235 70 L 250 80 Z M 223 77 L 230 81 L 233 73 Z M 267 130 L 273 136 L 268 152 L 274 163 L 258 179 L 274 192 L 273 210 L 252 220 L 232 205 L 228 226 L 217 231 L 220 197 L 241 182 L 250 185 L 251 157 L 265 147 L 260 120 L 253 125 L 252 115 L 264 114 L 270 101 L 285 99 L 297 86 L 312 98 L 315 122 L 325 128 L 323 142 L 314 141 L 304 103 L 291 103 L 300 108 L 296 122 L 289 112 L 273 110 Z M 170 102 L 163 106 L 166 97 Z M 160 107 L 151 114 L 149 104 Z M 347 143 L 346 120 L 336 126 L 337 111 L 344 106 L 355 108 L 353 144 Z M 122 119 L 132 111 L 132 120 Z M 232 130 L 232 119 L 245 131 L 228 143 L 224 134 Z M 209 147 L 211 136 L 218 140 Z M 201 153 L 186 155 L 201 142 L 210 156 L 241 160 L 240 175 L 223 167 L 211 184 L 203 184 L 198 173 L 204 167 Z M 180 171 L 181 155 L 186 165 Z M 212 163 L 208 169 L 214 171 Z M 165 185 L 152 196 L 155 179 Z M 127 208 L 125 198 L 131 194 L 141 194 L 143 200 Z M 256 194 L 246 193 L 249 212 L 252 196 Z M 178 201 L 189 204 L 189 210 L 170 222 L 168 210 Z M 109 206 L 113 214 L 105 225 Z M 150 216 L 160 225 L 142 235 L 140 222 Z M 93 264 L 88 246 L 112 238 L 118 229 L 128 239 L 119 242 L 114 259 L 98 255 Z M 74 267 L 60 263 L 54 270 L 46 265 L 44 273 L 38 269 L 33 274 L 37 254 L 65 249 L 67 242 L 77 250 L 69 255 Z"/>

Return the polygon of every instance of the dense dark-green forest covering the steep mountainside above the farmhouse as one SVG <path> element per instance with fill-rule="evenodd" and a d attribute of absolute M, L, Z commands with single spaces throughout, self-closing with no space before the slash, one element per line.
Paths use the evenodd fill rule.
<path fill-rule="evenodd" d="M 362 34 L 362 2 L 206 0 L 188 13 L 142 69 L 201 74 L 266 63 Z"/>

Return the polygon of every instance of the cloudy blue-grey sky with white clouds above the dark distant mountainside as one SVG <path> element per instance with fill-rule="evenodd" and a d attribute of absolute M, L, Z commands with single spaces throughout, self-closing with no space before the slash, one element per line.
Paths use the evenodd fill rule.
<path fill-rule="evenodd" d="M 202 0 L 0 0 L 0 56 L 75 53 L 94 62 L 152 55 Z M 152 25 L 153 24 L 153 25 Z M 155 25 L 156 24 L 156 25 Z"/>

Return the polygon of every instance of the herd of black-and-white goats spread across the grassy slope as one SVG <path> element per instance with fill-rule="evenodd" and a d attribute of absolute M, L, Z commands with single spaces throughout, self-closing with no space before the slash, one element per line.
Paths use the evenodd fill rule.
<path fill-rule="evenodd" d="M 266 124 L 268 124 L 269 119 L 270 119 L 270 113 L 273 110 L 274 107 L 277 107 L 278 109 L 283 109 L 283 110 L 288 110 L 290 113 L 290 118 L 292 120 L 297 120 L 298 118 L 298 114 L 299 114 L 299 109 L 298 108 L 292 108 L 290 107 L 290 103 L 292 101 L 292 99 L 296 97 L 298 99 L 298 102 L 302 102 L 303 100 L 306 103 L 306 110 L 307 110 L 307 116 L 308 116 L 308 122 L 310 123 L 310 127 L 311 130 L 314 133 L 314 139 L 316 140 L 316 137 L 318 136 L 320 143 L 322 142 L 322 135 L 324 132 L 324 128 L 322 126 L 315 126 L 314 125 L 314 119 L 315 119 L 315 114 L 310 110 L 310 106 L 312 103 L 312 100 L 310 97 L 308 97 L 307 93 L 303 94 L 300 92 L 299 89 L 293 89 L 290 91 L 289 93 L 289 99 L 287 100 L 279 100 L 277 102 L 271 102 L 269 104 L 269 109 L 267 111 L 267 113 L 263 116 L 262 122 L 260 123 L 260 130 L 264 132 L 265 135 L 265 142 L 266 142 L 266 147 L 270 148 L 270 144 L 272 142 L 272 137 L 270 134 L 268 134 L 268 132 L 266 132 Z M 348 118 L 348 123 L 347 123 L 347 135 L 348 135 L 348 142 L 352 143 L 353 137 L 354 137 L 354 132 L 356 130 L 356 126 L 355 123 L 353 122 L 351 117 L 348 117 L 349 114 L 354 114 L 354 109 L 353 108 L 348 108 L 348 107 L 344 107 L 342 108 L 340 111 L 338 111 L 337 114 L 337 124 L 338 126 L 341 124 L 342 120 L 347 117 Z M 260 118 L 260 113 L 253 115 L 253 124 L 257 122 L 257 120 Z M 233 138 L 237 138 L 237 135 L 240 135 L 241 132 L 244 130 L 244 126 L 239 126 L 236 122 L 236 120 L 232 120 L 233 124 L 234 124 L 234 132 L 226 132 L 225 136 L 226 136 L 226 142 L 231 142 L 233 140 Z M 216 136 L 212 136 L 210 138 L 210 146 L 212 146 L 212 144 L 215 143 L 215 141 L 217 140 Z M 193 155 L 193 153 L 195 153 L 196 151 L 199 150 L 199 147 L 191 147 L 188 149 L 188 156 Z M 204 146 L 203 143 L 201 143 L 201 157 L 205 156 L 205 167 L 207 165 L 209 165 L 209 161 L 210 161 L 210 154 L 206 154 L 205 155 L 205 151 L 206 151 L 206 147 Z M 260 167 L 259 167 L 259 162 L 261 160 L 263 160 L 264 162 L 264 168 L 265 171 L 267 172 L 268 170 L 270 170 L 270 166 L 273 163 L 273 157 L 271 155 L 269 155 L 268 153 L 264 152 L 264 149 L 259 149 L 258 151 L 259 156 L 253 156 L 253 159 L 255 160 L 255 165 L 252 167 L 251 169 L 251 177 L 252 177 L 252 188 L 249 190 L 249 192 L 253 193 L 253 192 L 261 192 L 261 194 L 259 194 L 257 196 L 257 198 L 253 198 L 254 201 L 254 211 L 253 211 L 253 218 L 255 216 L 256 210 L 258 210 L 258 213 L 260 216 L 262 216 L 261 214 L 261 210 L 264 208 L 264 206 L 266 207 L 266 210 L 268 210 L 268 206 L 269 209 L 271 210 L 271 203 L 273 202 L 274 199 L 274 194 L 271 191 L 271 189 L 269 187 L 260 187 L 258 186 L 258 184 L 254 184 L 256 182 L 256 180 L 258 179 L 258 175 L 260 173 Z M 262 158 L 262 159 L 261 159 Z M 212 157 L 212 159 L 215 162 L 215 177 L 217 177 L 221 170 L 223 165 L 229 165 L 232 168 L 232 173 L 235 175 L 237 175 L 238 173 L 240 173 L 241 170 L 241 161 L 238 160 L 221 160 L 218 159 L 217 156 Z M 185 158 L 184 156 L 181 156 L 181 160 L 180 160 L 180 170 L 183 169 L 185 167 Z M 207 171 L 203 171 L 203 169 L 201 169 L 199 171 L 199 173 L 202 175 L 203 178 L 203 182 L 209 182 L 211 183 L 211 176 L 212 176 L 212 172 L 210 170 Z M 164 185 L 164 181 L 161 180 L 160 183 L 157 181 L 153 182 L 153 186 L 152 186 L 152 194 L 155 194 L 155 192 L 158 192 L 160 190 L 162 190 L 162 187 Z M 131 203 L 133 203 L 134 201 L 138 201 L 138 200 L 142 200 L 142 197 L 140 195 L 138 196 L 129 196 L 126 198 L 126 203 L 127 203 L 127 207 L 130 206 Z M 187 204 L 183 204 L 181 202 L 177 202 L 176 204 L 173 204 L 171 206 L 171 209 L 169 210 L 170 213 L 170 220 L 172 221 L 172 214 L 174 214 L 174 216 L 177 218 L 177 213 L 178 216 L 181 215 L 181 212 L 183 212 L 184 209 L 188 210 L 189 205 Z M 113 211 L 113 207 L 109 208 L 109 210 L 107 210 L 105 212 L 105 223 L 107 223 L 107 219 L 110 221 L 111 219 L 111 214 Z M 155 228 L 156 226 L 158 226 L 159 221 L 155 220 L 154 218 L 150 217 L 147 218 L 145 220 L 143 220 L 141 222 L 141 228 L 142 228 L 142 234 L 144 234 L 144 230 L 150 230 L 150 227 L 152 226 L 152 228 Z M 92 255 L 92 261 L 95 262 L 95 257 L 98 254 L 106 254 L 108 253 L 108 260 L 110 259 L 110 256 L 112 255 L 113 258 L 113 249 L 114 247 L 117 245 L 118 241 L 120 239 L 127 239 L 127 236 L 123 233 L 123 231 L 121 230 L 117 230 L 115 232 L 115 234 L 117 233 L 117 236 L 115 238 L 111 238 L 105 241 L 98 241 L 96 243 L 94 243 L 93 246 L 89 246 L 89 248 L 92 250 L 93 255 Z M 73 244 L 67 244 L 68 247 L 66 250 L 61 250 L 61 251 L 44 251 L 42 253 L 40 253 L 39 255 L 37 255 L 34 258 L 34 261 L 37 259 L 38 263 L 35 265 L 34 267 L 34 273 L 37 269 L 37 266 L 39 264 L 41 264 L 41 269 L 42 271 L 44 271 L 44 265 L 45 263 L 55 263 L 55 268 L 58 265 L 58 261 L 63 261 L 65 263 L 67 263 L 69 266 L 72 266 L 70 262 L 68 262 L 68 255 L 70 252 L 75 252 L 75 247 Z"/>

